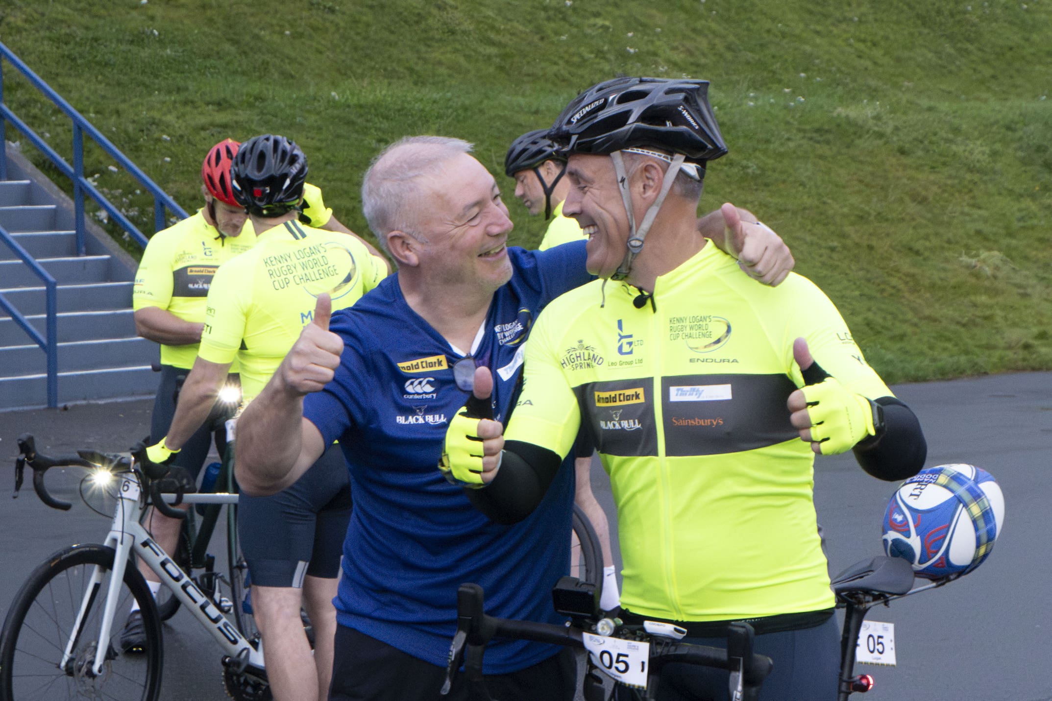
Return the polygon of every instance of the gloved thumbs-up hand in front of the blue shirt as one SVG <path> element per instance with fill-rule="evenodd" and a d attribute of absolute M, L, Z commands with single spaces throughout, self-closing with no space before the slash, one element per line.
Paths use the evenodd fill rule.
<path fill-rule="evenodd" d="M 471 396 L 449 421 L 439 470 L 453 484 L 479 489 L 497 477 L 504 426 L 488 418 L 492 416 L 489 397 L 493 391 L 489 368 L 476 368 L 473 380 Z"/>

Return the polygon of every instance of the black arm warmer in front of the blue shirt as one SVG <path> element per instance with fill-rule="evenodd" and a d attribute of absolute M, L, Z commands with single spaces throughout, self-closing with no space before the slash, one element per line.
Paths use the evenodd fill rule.
<path fill-rule="evenodd" d="M 482 489 L 464 488 L 464 494 L 490 520 L 518 523 L 541 503 L 562 462 L 547 448 L 509 440 L 493 481 Z"/>

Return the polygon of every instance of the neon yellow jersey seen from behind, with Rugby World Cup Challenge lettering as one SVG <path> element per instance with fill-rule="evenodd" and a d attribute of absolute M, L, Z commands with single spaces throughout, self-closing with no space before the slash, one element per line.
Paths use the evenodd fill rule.
<path fill-rule="evenodd" d="M 247 404 L 313 319 L 319 294 L 349 307 L 387 275 L 353 236 L 286 222 L 264 231 L 255 248 L 226 263 L 208 291 L 199 354 L 241 365 Z"/>

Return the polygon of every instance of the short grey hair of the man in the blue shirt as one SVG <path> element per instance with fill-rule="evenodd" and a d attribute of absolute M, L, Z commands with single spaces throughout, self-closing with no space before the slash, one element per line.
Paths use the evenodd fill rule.
<path fill-rule="evenodd" d="M 365 221 L 388 255 L 387 234 L 404 231 L 426 243 L 413 229 L 418 217 L 421 180 L 442 170 L 442 164 L 460 153 L 470 153 L 473 144 L 449 137 L 405 137 L 372 159 L 362 182 Z"/>

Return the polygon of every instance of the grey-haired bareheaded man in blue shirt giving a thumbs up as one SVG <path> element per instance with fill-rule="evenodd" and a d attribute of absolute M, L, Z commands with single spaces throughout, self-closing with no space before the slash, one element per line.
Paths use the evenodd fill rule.
<path fill-rule="evenodd" d="M 477 512 L 434 466 L 468 396 L 458 376 L 488 368 L 493 414 L 508 415 L 533 321 L 588 280 L 585 244 L 507 248 L 507 209 L 470 148 L 416 137 L 378 157 L 363 207 L 399 272 L 341 310 L 331 331 L 322 297 L 238 426 L 238 480 L 249 493 L 283 489 L 336 439 L 350 466 L 330 699 L 440 698 L 462 582 L 482 584 L 492 615 L 560 620 L 549 587 L 569 561 L 572 460 L 512 527 Z M 722 221 L 715 228 L 722 239 Z M 497 641 L 484 673 L 501 699 L 573 698 L 565 650 Z M 466 693 L 454 686 L 445 698 Z"/>

